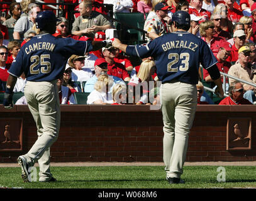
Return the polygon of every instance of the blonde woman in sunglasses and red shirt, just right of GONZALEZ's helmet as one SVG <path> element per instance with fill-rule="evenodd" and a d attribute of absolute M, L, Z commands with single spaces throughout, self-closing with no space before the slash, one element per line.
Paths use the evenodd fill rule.
<path fill-rule="evenodd" d="M 200 35 L 202 39 L 206 41 L 211 51 L 213 51 L 213 55 L 216 56 L 218 50 L 221 46 L 221 43 L 224 43 L 225 40 L 221 37 L 214 36 L 214 23 L 213 21 L 204 21 L 199 25 Z"/>

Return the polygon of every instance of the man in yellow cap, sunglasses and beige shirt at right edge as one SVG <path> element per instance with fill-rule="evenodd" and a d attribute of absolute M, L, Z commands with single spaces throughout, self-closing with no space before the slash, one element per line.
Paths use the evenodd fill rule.
<path fill-rule="evenodd" d="M 230 67 L 230 70 L 228 70 L 228 75 L 232 75 L 238 79 L 256 84 L 256 67 L 250 63 L 250 53 L 251 51 L 248 46 L 242 46 L 238 50 L 238 62 Z M 234 84 L 235 82 L 237 81 L 231 78 L 229 79 L 230 85 Z M 243 97 L 252 103 L 255 102 L 255 87 L 244 83 L 242 83 L 242 85 L 243 89 L 245 90 Z"/>

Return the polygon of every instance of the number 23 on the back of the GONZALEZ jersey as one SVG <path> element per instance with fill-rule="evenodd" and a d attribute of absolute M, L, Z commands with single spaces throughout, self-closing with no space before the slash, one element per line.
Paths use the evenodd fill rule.
<path fill-rule="evenodd" d="M 181 53 L 181 55 L 177 53 L 169 53 L 168 58 L 173 59 L 167 65 L 168 72 L 178 72 L 178 70 L 187 71 L 187 69 L 189 69 L 189 53 L 184 52 Z M 178 67 L 177 65 L 175 65 L 175 63 L 178 63 L 180 59 L 182 65 Z"/>

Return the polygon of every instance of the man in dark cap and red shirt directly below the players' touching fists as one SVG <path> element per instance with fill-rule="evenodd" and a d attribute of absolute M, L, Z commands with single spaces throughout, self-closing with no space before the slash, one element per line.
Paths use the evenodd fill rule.
<path fill-rule="evenodd" d="M 108 63 L 108 75 L 113 75 L 123 79 L 125 82 L 130 81 L 130 75 L 128 74 L 125 66 L 122 63 L 114 62 L 116 57 L 116 48 L 110 46 L 109 48 L 103 48 L 103 57 Z"/>

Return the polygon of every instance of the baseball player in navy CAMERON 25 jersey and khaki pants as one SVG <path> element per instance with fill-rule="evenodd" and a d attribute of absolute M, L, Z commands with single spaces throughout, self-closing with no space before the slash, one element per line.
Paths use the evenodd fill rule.
<path fill-rule="evenodd" d="M 84 55 L 110 45 L 111 41 L 77 41 L 72 38 L 55 38 L 56 17 L 52 11 L 36 16 L 40 34 L 25 43 L 11 68 L 4 93 L 4 107 L 13 107 L 13 87 L 21 73 L 27 84 L 25 97 L 36 122 L 38 139 L 25 155 L 18 157 L 21 177 L 31 182 L 30 167 L 38 161 L 40 182 L 55 182 L 50 173 L 50 146 L 57 140 L 60 129 L 60 102 L 57 79 L 62 77 L 65 64 L 71 55 Z"/>

